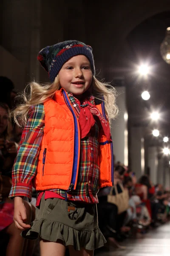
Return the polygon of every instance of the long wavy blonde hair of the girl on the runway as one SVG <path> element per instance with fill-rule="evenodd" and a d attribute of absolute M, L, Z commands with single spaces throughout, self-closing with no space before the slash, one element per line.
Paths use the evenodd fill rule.
<path fill-rule="evenodd" d="M 11 116 L 14 117 L 14 121 L 19 126 L 25 126 L 28 119 L 29 108 L 33 105 L 41 104 L 48 98 L 52 98 L 57 90 L 60 90 L 59 77 L 56 76 L 52 84 L 38 84 L 32 82 L 28 84 L 23 93 L 19 95 L 22 100 L 22 104 L 18 105 L 16 109 L 11 112 Z M 29 89 L 29 93 L 27 90 Z M 116 105 L 116 90 L 110 84 L 104 83 L 96 79 L 93 76 L 91 83 L 92 95 L 96 99 L 103 99 L 105 102 L 105 111 L 108 119 L 114 119 L 118 114 L 118 107 Z M 20 120 L 20 122 L 18 122 Z"/>

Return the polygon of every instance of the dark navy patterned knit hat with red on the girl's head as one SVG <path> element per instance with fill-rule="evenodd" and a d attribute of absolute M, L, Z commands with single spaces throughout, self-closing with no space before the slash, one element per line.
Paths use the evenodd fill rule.
<path fill-rule="evenodd" d="M 85 55 L 88 58 L 92 73 L 95 75 L 92 48 L 79 41 L 64 41 L 52 46 L 47 46 L 39 52 L 37 59 L 48 72 L 49 79 L 52 83 L 63 64 L 76 55 Z"/>

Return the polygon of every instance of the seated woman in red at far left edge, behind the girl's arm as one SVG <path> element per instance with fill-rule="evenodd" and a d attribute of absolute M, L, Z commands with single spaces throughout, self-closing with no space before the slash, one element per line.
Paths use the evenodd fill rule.
<path fill-rule="evenodd" d="M 10 140 L 11 122 L 9 119 L 9 108 L 0 102 L 0 243 L 4 234 L 9 236 L 6 248 L 6 256 L 18 256 L 23 251 L 24 239 L 20 236 L 20 230 L 14 225 L 14 204 L 8 199 L 11 189 L 11 169 L 17 154 L 17 143 Z M 28 218 L 31 217 L 30 204 L 24 203 Z M 8 239 L 7 239 L 8 240 Z M 3 241 L 6 243 L 6 241 Z M 1 250 L 2 250 L 2 245 Z M 23 254 L 22 254 L 23 255 Z"/>

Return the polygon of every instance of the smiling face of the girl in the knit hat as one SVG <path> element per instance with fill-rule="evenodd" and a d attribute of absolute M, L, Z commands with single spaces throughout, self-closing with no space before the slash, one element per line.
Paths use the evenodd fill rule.
<path fill-rule="evenodd" d="M 59 71 L 59 84 L 67 92 L 75 96 L 81 95 L 91 86 L 91 65 L 84 55 L 69 59 Z"/>

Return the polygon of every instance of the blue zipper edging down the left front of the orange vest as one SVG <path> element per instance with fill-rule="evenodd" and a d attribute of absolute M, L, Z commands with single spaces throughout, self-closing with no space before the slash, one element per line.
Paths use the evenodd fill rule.
<path fill-rule="evenodd" d="M 67 93 L 63 91 L 63 96 L 65 100 L 65 104 L 68 106 L 70 109 L 73 117 L 74 117 L 74 160 L 73 160 L 73 170 L 72 170 L 72 176 L 71 176 L 71 183 L 70 186 L 68 187 L 67 192 L 71 192 L 72 189 L 74 189 L 75 182 L 76 182 L 76 177 L 77 177 L 77 166 L 79 164 L 79 157 L 78 157 L 78 148 L 79 148 L 79 130 L 78 130 L 78 122 L 77 122 L 77 116 L 74 113 L 74 110 L 71 108 L 71 104 L 68 100 Z"/>

